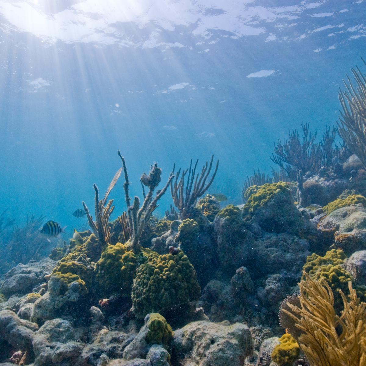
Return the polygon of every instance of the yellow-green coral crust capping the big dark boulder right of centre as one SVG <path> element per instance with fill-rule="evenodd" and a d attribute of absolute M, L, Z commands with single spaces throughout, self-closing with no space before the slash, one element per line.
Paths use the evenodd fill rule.
<path fill-rule="evenodd" d="M 248 192 L 248 193 L 247 193 Z M 250 195 L 249 195 L 250 194 Z M 243 214 L 253 216 L 255 212 L 265 206 L 278 194 L 291 196 L 288 183 L 266 183 L 263 186 L 251 186 L 247 189 L 244 197 L 247 197 L 247 202 L 243 206 Z"/>

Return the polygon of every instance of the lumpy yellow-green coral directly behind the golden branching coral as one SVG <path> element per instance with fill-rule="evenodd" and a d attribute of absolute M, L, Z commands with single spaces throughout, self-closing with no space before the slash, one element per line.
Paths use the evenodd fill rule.
<path fill-rule="evenodd" d="M 346 296 L 349 294 L 348 282 L 354 281 L 351 274 L 342 267 L 346 254 L 343 250 L 332 249 L 326 252 L 322 257 L 315 253 L 306 258 L 303 266 L 303 272 L 308 273 L 312 280 L 324 278 L 334 294 L 334 307 L 340 313 L 343 310 L 343 301 L 338 290 L 341 290 Z M 304 277 L 302 277 L 303 279 Z M 353 284 L 357 296 L 362 301 L 366 300 L 366 288 Z"/>

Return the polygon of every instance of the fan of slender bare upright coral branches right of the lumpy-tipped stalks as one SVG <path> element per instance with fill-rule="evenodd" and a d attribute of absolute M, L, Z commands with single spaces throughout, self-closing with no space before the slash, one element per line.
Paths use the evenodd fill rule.
<path fill-rule="evenodd" d="M 219 168 L 219 160 L 217 160 L 216 167 L 211 175 L 211 178 L 208 180 L 212 169 L 212 163 L 213 155 L 211 157 L 210 164 L 206 161 L 206 164 L 202 168 L 201 174 L 197 173 L 196 175 L 198 159 L 193 168 L 191 160 L 189 168 L 182 171 L 182 176 L 180 176 L 181 169 L 179 169 L 176 174 L 175 181 L 171 182 L 170 191 L 174 205 L 179 210 L 179 218 L 181 220 L 187 219 L 189 217 L 190 210 L 195 206 L 197 199 L 201 197 L 211 186 L 216 176 L 217 169 Z M 174 170 L 175 165 L 173 167 L 173 172 Z M 186 176 L 187 182 L 185 181 Z M 208 183 L 206 184 L 207 180 Z"/>

